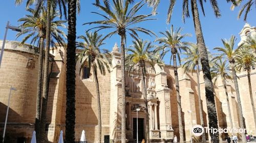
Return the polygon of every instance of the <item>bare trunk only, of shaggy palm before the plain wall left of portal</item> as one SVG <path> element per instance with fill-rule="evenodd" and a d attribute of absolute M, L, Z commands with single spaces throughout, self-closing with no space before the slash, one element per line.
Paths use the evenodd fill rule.
<path fill-rule="evenodd" d="M 97 77 L 97 71 L 94 67 L 93 68 L 93 77 L 95 80 L 95 86 L 96 86 L 96 94 L 97 94 L 97 106 L 98 106 L 98 142 L 101 142 L 101 108 L 100 108 L 100 95 L 99 95 L 99 81 Z"/>

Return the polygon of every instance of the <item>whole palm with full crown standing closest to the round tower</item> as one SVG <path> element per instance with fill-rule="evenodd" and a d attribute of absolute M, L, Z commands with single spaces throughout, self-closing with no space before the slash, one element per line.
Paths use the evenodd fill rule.
<path fill-rule="evenodd" d="M 18 21 L 23 22 L 20 28 L 22 32 L 19 32 L 16 37 L 26 35 L 22 44 L 24 44 L 28 39 L 31 39 L 30 44 L 39 45 L 39 60 L 38 60 L 38 79 L 37 79 L 37 96 L 36 96 L 36 117 L 35 117 L 35 131 L 37 139 L 40 137 L 40 115 L 41 115 L 41 83 L 42 83 L 42 61 L 44 55 L 44 44 L 46 39 L 46 7 L 41 7 L 39 10 L 39 15 L 35 15 L 35 9 L 27 9 L 31 15 L 26 15 L 24 18 L 18 19 Z M 59 16 L 59 13 L 54 11 L 51 13 L 51 43 L 57 41 L 59 45 L 64 45 L 66 34 L 59 29 L 59 27 L 65 28 L 66 21 L 54 20 Z M 52 44 L 53 45 L 53 44 Z M 44 107 L 42 107 L 44 108 Z"/>

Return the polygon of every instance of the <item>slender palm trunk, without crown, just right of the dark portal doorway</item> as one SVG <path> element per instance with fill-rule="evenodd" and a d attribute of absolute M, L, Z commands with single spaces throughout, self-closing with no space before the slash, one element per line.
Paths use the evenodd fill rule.
<path fill-rule="evenodd" d="M 148 108 L 147 108 L 147 97 L 146 97 L 146 84 L 145 84 L 145 63 L 143 63 L 143 66 L 141 66 L 142 71 L 142 92 L 143 92 L 143 98 L 145 103 L 145 112 L 146 112 L 146 142 L 150 142 L 150 123 L 148 120 Z M 151 109 L 152 110 L 152 109 Z M 152 120 L 152 118 L 150 119 Z"/>

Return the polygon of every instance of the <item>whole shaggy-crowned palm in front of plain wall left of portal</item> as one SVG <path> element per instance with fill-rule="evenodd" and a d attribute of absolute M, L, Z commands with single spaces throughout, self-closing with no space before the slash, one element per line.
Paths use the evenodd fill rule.
<path fill-rule="evenodd" d="M 77 47 L 82 48 L 82 51 L 78 54 L 81 68 L 87 64 L 87 67 L 93 70 L 98 106 L 98 142 L 101 142 L 101 108 L 97 70 L 99 70 L 102 75 L 105 75 L 106 69 L 110 73 L 110 67 L 112 65 L 111 54 L 107 50 L 100 50 L 100 46 L 104 44 L 104 38 L 102 38 L 102 35 L 98 35 L 97 32 L 86 32 L 86 36 L 78 36 L 78 39 L 82 39 L 84 41 L 77 42 L 76 44 Z"/>

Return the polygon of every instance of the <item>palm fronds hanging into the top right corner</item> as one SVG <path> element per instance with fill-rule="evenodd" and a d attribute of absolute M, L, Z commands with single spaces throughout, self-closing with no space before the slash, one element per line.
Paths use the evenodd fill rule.
<path fill-rule="evenodd" d="M 231 10 L 233 10 L 235 7 L 240 6 L 243 1 L 244 0 L 227 0 L 227 2 L 232 2 Z M 253 2 L 252 0 L 248 0 L 247 2 L 245 2 L 245 4 L 241 7 L 240 11 L 238 12 L 238 18 L 241 18 L 241 15 L 244 12 L 244 21 L 246 21 L 247 15 L 251 11 L 251 6 L 253 4 L 256 4 L 256 1 Z"/>

